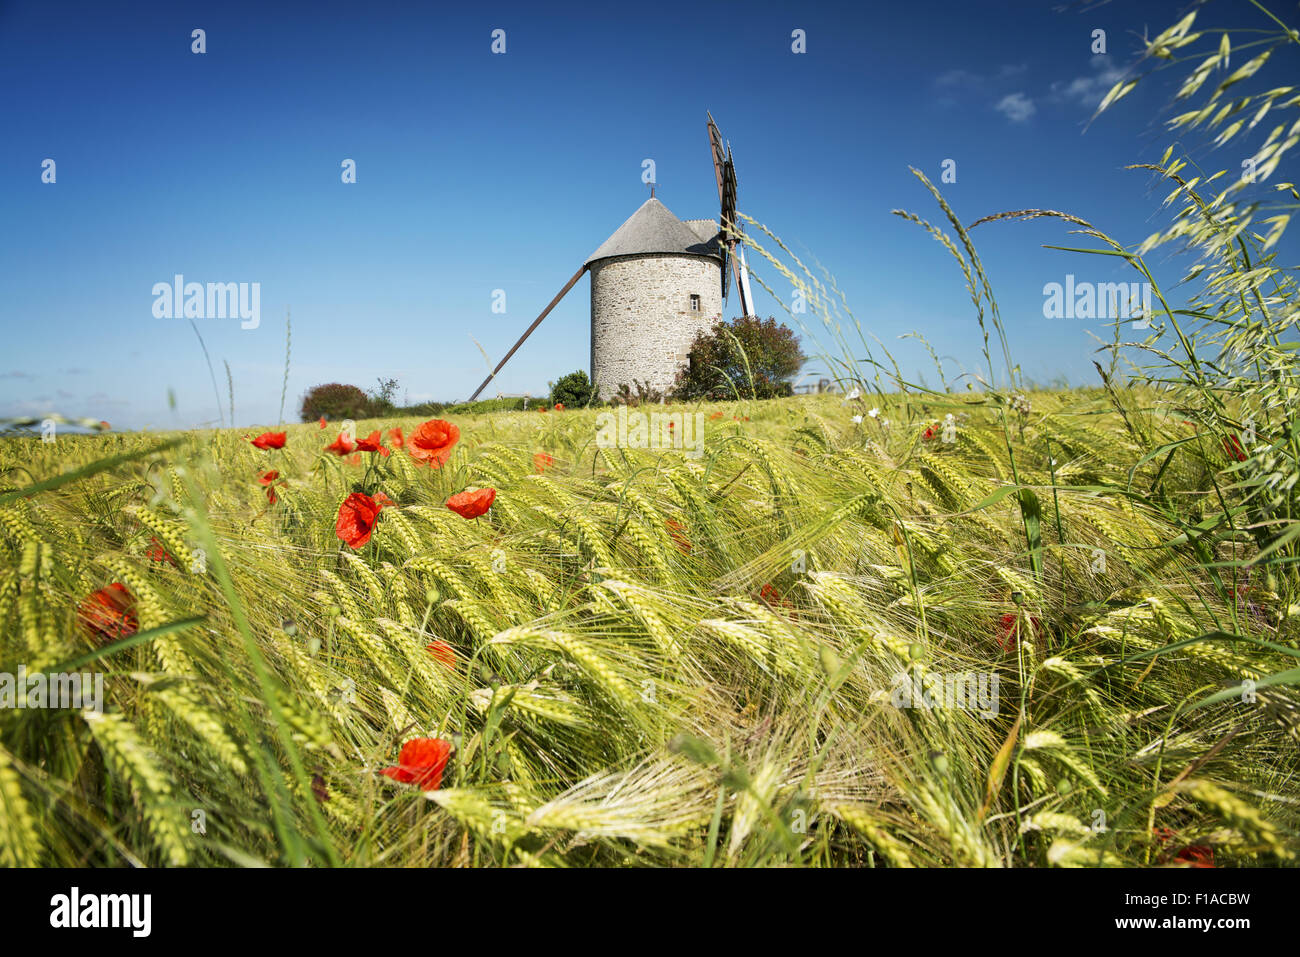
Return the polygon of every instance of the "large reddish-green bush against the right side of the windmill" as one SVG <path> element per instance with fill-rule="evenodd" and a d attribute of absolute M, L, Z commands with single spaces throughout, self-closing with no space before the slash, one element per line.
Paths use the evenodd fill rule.
<path fill-rule="evenodd" d="M 714 402 L 789 395 L 789 378 L 803 359 L 793 330 L 771 316 L 715 322 L 692 343 L 689 364 L 677 373 L 672 395 Z"/>

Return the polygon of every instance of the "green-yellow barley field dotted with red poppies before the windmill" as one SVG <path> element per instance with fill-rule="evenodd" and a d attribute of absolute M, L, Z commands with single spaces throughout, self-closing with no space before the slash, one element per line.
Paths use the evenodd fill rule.
<path fill-rule="evenodd" d="M 1294 664 L 1294 596 L 1160 506 L 1225 449 L 1143 460 L 1100 390 L 1018 397 L 1009 445 L 983 399 L 857 406 L 690 410 L 697 460 L 597 447 L 594 410 L 462 417 L 441 464 L 411 420 L 355 458 L 316 424 L 4 442 L 0 661 L 107 700 L 0 713 L 0 856 L 1292 861 L 1295 696 L 1239 685 Z M 391 505 L 352 547 L 358 492 Z"/>

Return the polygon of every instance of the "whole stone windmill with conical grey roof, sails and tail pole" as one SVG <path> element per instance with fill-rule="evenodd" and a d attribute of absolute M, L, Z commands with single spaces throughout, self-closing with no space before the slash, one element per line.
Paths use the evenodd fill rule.
<path fill-rule="evenodd" d="M 741 311 L 753 302 L 745 250 L 737 243 L 736 169 L 731 151 L 708 117 L 708 144 L 718 181 L 722 228 L 714 220 L 679 220 L 654 198 L 628 217 L 597 247 L 564 285 L 519 342 L 482 381 L 469 400 L 495 378 L 524 341 L 577 285 L 592 273 L 592 381 L 599 398 L 634 382 L 667 391 L 686 363 L 692 342 L 722 319 L 727 298 L 728 265 L 736 276 Z"/>

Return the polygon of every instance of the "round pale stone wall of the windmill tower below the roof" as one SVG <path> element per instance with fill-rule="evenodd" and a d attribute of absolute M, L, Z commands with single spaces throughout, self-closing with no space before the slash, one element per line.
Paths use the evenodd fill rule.
<path fill-rule="evenodd" d="M 602 399 L 633 380 L 667 390 L 686 364 L 696 334 L 722 316 L 718 260 L 620 256 L 592 264 L 592 380 Z M 690 296 L 699 296 L 699 312 Z"/>

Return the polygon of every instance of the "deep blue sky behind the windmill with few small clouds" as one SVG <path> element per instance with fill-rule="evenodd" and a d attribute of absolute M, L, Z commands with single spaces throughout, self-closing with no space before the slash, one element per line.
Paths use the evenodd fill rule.
<path fill-rule="evenodd" d="M 1219 20 L 1252 16 L 1228 7 Z M 239 426 L 278 419 L 286 309 L 286 419 L 325 381 L 394 376 L 411 402 L 463 399 L 486 374 L 474 341 L 495 364 L 647 196 L 644 159 L 677 216 L 716 216 L 706 109 L 734 151 L 741 211 L 828 269 L 907 374 L 937 381 L 923 350 L 897 341 L 913 330 L 953 356 L 952 376 L 978 369 L 959 273 L 890 215 L 937 215 L 909 165 L 939 182 L 956 160 L 941 189 L 966 221 L 1049 207 L 1127 243 L 1161 222 L 1165 191 L 1123 166 L 1164 152 L 1154 117 L 1169 87 L 1084 122 L 1143 31 L 1183 5 L 1057 8 L 0 3 L 0 416 L 216 423 L 194 330 L 152 313 L 153 283 L 176 273 L 260 283 L 259 328 L 198 320 L 222 407 L 229 361 Z M 792 52 L 796 29 L 806 53 Z M 1091 52 L 1095 29 L 1106 56 Z M 341 182 L 344 159 L 356 183 Z M 1086 329 L 1109 335 L 1104 322 L 1044 319 L 1043 286 L 1127 276 L 1043 250 L 1067 239 L 1060 226 L 975 238 L 1026 374 L 1095 381 Z M 538 394 L 586 369 L 588 294 L 584 278 L 490 391 Z M 758 311 L 783 315 L 764 293 Z"/>

